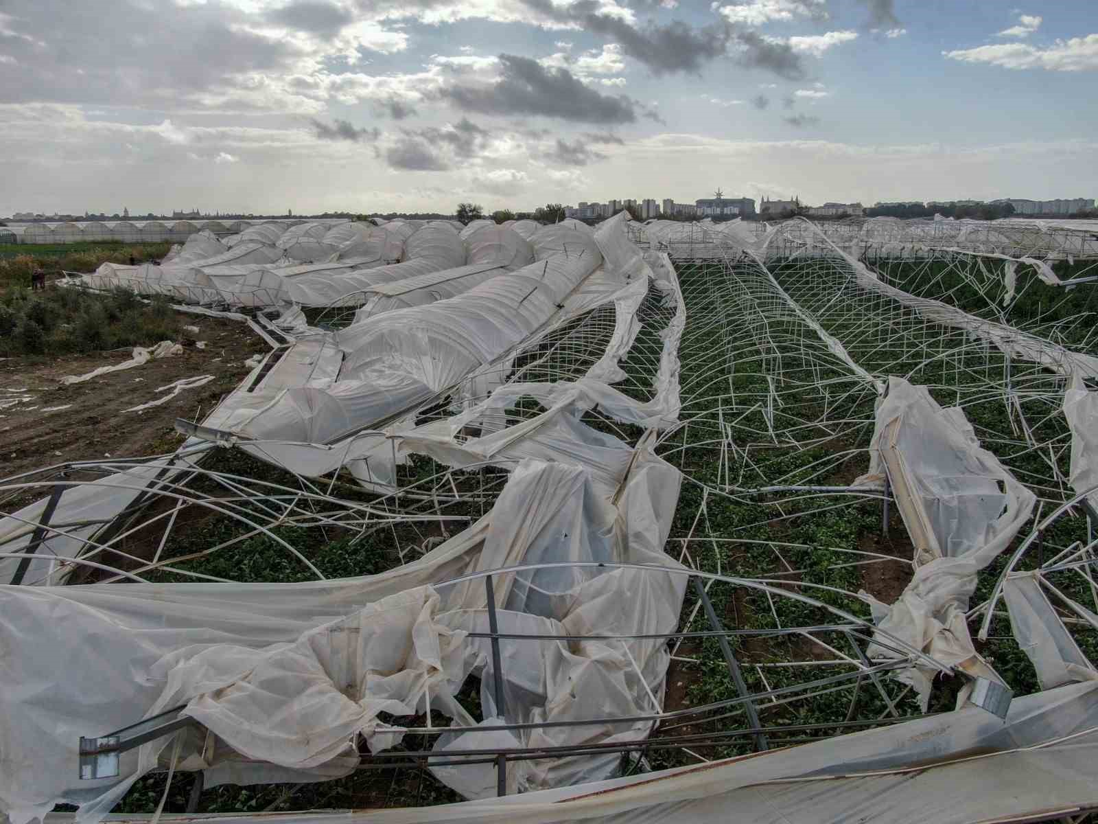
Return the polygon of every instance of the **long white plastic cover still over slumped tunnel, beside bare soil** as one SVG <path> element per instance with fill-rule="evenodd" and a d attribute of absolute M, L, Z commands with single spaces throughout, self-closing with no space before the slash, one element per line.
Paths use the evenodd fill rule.
<path fill-rule="evenodd" d="M 562 301 L 603 261 L 591 234 L 561 226 L 538 233 L 534 247 L 538 263 L 455 298 L 340 331 L 336 341 L 345 357 L 337 381 L 287 389 L 261 408 L 227 413 L 221 425 L 250 437 L 329 443 L 406 415 L 550 321 L 567 318 Z"/>

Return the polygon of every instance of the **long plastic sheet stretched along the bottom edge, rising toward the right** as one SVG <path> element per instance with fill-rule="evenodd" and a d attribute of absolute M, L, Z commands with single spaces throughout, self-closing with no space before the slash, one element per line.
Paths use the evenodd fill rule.
<path fill-rule="evenodd" d="M 1088 683 L 1018 698 L 1005 723 L 968 706 L 796 747 L 458 804 L 219 815 L 231 824 L 334 816 L 344 824 L 703 824 L 727 821 L 729 810 L 758 824 L 845 824 L 856 811 L 883 824 L 1065 817 L 1098 805 L 1096 693 L 1098 684 Z M 45 824 L 72 821 L 72 813 L 53 813 Z"/>

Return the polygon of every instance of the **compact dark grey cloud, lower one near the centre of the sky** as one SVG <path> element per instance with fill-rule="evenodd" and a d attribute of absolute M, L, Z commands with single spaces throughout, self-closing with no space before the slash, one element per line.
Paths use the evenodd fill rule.
<path fill-rule="evenodd" d="M 602 94 L 568 69 L 552 69 L 517 55 L 500 55 L 501 78 L 456 78 L 439 97 L 469 112 L 533 114 L 581 123 L 634 123 L 643 107 L 625 94 Z"/>

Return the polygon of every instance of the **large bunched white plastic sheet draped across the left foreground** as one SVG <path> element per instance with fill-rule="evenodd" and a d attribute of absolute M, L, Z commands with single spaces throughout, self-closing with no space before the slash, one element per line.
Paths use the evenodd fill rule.
<path fill-rule="evenodd" d="M 124 726 L 180 702 L 187 702 L 189 714 L 208 723 L 239 754 L 269 755 L 276 766 L 306 771 L 320 767 L 330 772 L 338 765 L 351 769 L 357 759 L 346 756 L 352 732 L 377 732 L 381 743 L 393 742 L 393 733 L 399 733 L 379 730 L 376 712 L 396 709 L 390 702 L 424 711 L 428 682 L 432 706 L 446 708 L 447 692 L 456 692 L 462 673 L 482 666 L 480 647 L 458 642 L 463 626 L 479 626 L 475 613 L 485 606 L 483 581 L 473 578 L 439 588 L 441 582 L 529 558 L 639 564 L 658 559 L 668 565 L 661 547 L 677 500 L 677 470 L 647 452 L 638 453 L 628 478 L 623 478 L 616 505 L 590 479 L 579 466 L 524 461 L 485 517 L 419 560 L 379 576 L 295 584 L 0 588 L 3 612 L 11 616 L 0 625 L 0 636 L 19 662 L 22 684 L 0 694 L 4 719 L 0 745 L 3 751 L 18 747 L 23 754 L 14 769 L 0 772 L 4 812 L 13 824 L 24 824 L 54 803 L 68 801 L 83 804 L 82 820 L 98 819 L 155 766 L 170 739 L 125 754 L 121 779 L 82 782 L 69 768 L 79 736 Z M 500 512 L 506 517 L 498 517 Z M 640 583 L 629 581 L 641 575 L 650 609 L 623 609 L 626 591 L 635 592 Z M 627 589 L 618 583 L 628 584 Z M 576 586 L 586 587 L 592 600 L 576 600 L 572 592 Z M 503 613 L 542 609 L 586 633 L 600 632 L 606 621 L 614 626 L 654 622 L 659 632 L 673 632 L 684 586 L 685 576 L 586 567 L 565 570 L 563 577 L 553 569 L 502 574 L 496 576 L 495 591 Z M 657 594 L 661 600 L 648 604 L 648 595 Z M 349 646 L 354 634 L 346 630 L 351 626 L 359 627 L 358 637 L 365 628 L 383 633 L 385 641 Z M 91 637 L 97 638 L 94 644 L 88 643 Z M 581 694 L 590 700 L 570 699 L 554 705 L 554 713 L 602 716 L 608 708 L 617 711 L 615 702 L 625 698 L 649 701 L 639 681 L 630 686 L 624 649 L 591 655 L 595 653 L 596 658 L 578 654 L 561 659 L 551 654 L 546 659 L 586 673 L 576 681 L 565 671 L 547 671 L 546 683 L 554 690 L 567 683 L 587 684 Z M 651 678 L 649 689 L 659 694 L 665 646 L 638 642 L 630 653 Z M 58 657 L 81 678 L 57 679 Z M 504 678 L 522 684 L 530 673 L 517 666 L 508 670 L 509 659 L 508 653 Z M 371 662 L 381 669 L 371 669 Z M 120 671 L 143 677 L 120 679 Z M 604 676 L 596 677 L 598 671 Z M 29 690 L 48 695 L 48 701 L 27 701 Z M 558 698 L 556 692 L 546 695 Z M 535 712 L 537 700 L 527 704 L 516 700 L 506 716 Z M 92 705 L 96 710 L 89 712 Z M 628 703 L 620 712 L 630 714 L 636 708 Z M 205 762 L 194 760 L 200 751 L 190 746 L 182 757 L 191 766 L 184 768 L 204 768 Z M 573 769 L 579 777 L 584 773 L 578 764 Z M 603 761 L 594 764 L 596 773 L 587 777 L 605 777 L 598 772 Z M 283 769 L 277 775 L 271 780 L 284 780 L 287 773 Z M 258 780 L 256 775 L 251 778 Z M 301 780 L 311 778 L 315 779 L 313 772 Z M 537 775 L 529 780 L 536 783 Z"/>

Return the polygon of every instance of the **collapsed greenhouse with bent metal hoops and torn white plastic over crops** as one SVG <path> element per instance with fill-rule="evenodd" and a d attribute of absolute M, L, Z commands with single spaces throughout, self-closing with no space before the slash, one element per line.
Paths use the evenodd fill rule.
<path fill-rule="evenodd" d="M 172 454 L 0 483 L 0 812 L 1082 816 L 1096 282 L 1086 230 L 624 213 L 74 275 L 270 353 Z"/>

